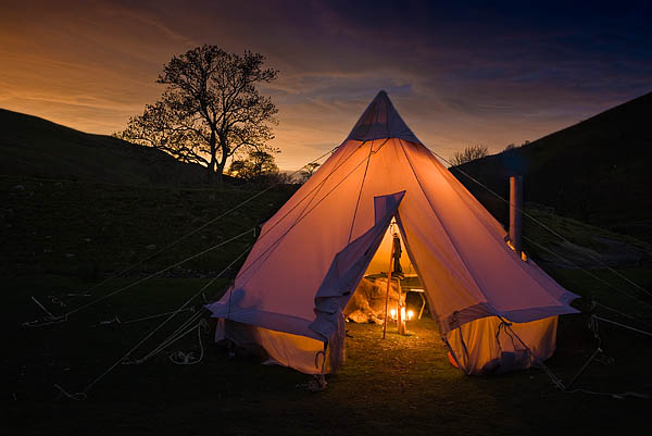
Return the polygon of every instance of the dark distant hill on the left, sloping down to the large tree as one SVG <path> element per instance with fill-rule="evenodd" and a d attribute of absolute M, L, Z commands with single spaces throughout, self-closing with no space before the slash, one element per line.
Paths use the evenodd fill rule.
<path fill-rule="evenodd" d="M 117 185 L 200 185 L 200 165 L 149 147 L 0 109 L 0 174 Z"/>

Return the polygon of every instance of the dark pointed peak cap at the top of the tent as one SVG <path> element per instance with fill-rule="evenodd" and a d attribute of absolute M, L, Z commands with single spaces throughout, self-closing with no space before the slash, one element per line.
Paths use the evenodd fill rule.
<path fill-rule="evenodd" d="M 387 92 L 380 91 L 358 120 L 347 139 L 367 141 L 385 138 L 401 138 L 422 144 L 401 119 Z"/>

